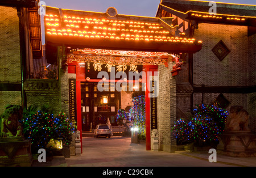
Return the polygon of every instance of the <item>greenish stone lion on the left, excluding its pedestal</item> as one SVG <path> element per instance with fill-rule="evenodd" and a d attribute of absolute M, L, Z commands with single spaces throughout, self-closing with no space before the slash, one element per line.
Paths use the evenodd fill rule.
<path fill-rule="evenodd" d="M 0 138 L 5 137 L 23 137 L 22 125 L 19 120 L 22 119 L 22 107 L 20 105 L 7 105 L 5 112 L 0 118 Z"/>

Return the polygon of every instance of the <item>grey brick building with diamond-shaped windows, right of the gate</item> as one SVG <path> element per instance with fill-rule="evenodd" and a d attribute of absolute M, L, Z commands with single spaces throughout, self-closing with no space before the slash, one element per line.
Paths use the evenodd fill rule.
<path fill-rule="evenodd" d="M 200 52 L 186 56 L 176 77 L 176 117 L 189 118 L 196 105 L 213 101 L 228 111 L 241 105 L 255 133 L 256 6 L 216 2 L 216 14 L 209 14 L 212 6 L 209 1 L 163 0 L 156 13 L 170 18 L 177 33 L 203 41 Z"/>

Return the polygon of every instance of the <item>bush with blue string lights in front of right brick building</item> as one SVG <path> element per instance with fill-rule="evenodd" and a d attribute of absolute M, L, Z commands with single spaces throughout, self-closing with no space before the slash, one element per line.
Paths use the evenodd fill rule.
<path fill-rule="evenodd" d="M 218 143 L 218 135 L 224 132 L 228 112 L 215 105 L 197 105 L 190 120 L 179 118 L 172 131 L 180 142 L 201 145 Z"/>

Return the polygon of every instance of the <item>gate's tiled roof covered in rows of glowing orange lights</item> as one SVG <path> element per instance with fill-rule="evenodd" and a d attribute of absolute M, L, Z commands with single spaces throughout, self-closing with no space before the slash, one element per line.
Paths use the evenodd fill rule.
<path fill-rule="evenodd" d="M 60 10 L 47 7 L 46 42 L 118 50 L 197 52 L 201 41 L 174 36 L 176 27 L 159 18 Z"/>

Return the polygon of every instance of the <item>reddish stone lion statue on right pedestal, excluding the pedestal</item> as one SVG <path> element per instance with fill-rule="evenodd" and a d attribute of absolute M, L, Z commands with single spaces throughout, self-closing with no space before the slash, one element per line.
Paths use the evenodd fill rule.
<path fill-rule="evenodd" d="M 226 122 L 227 131 L 250 131 L 248 127 L 249 113 L 242 106 L 230 107 L 230 114 Z"/>

